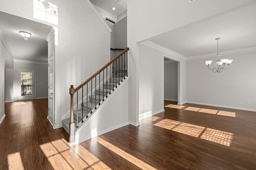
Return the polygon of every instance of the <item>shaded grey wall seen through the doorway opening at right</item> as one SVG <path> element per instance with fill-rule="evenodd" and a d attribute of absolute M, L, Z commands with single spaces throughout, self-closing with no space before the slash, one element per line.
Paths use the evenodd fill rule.
<path fill-rule="evenodd" d="M 164 99 L 178 101 L 178 62 L 164 61 Z"/>

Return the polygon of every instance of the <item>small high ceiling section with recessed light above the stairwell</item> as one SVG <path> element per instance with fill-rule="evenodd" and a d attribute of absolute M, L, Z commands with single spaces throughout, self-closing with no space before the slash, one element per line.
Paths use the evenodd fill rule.
<path fill-rule="evenodd" d="M 127 0 L 90 0 L 92 4 L 106 10 L 114 16 L 119 16 L 127 10 Z M 112 10 L 112 8 L 116 10 Z"/>

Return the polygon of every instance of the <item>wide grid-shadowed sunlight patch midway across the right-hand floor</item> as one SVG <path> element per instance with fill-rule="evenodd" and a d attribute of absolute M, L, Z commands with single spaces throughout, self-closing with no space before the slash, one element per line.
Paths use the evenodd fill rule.
<path fill-rule="evenodd" d="M 190 123 L 183 123 L 172 119 L 163 119 L 154 123 L 154 125 L 228 147 L 231 145 L 233 139 L 233 133 L 193 125 Z"/>

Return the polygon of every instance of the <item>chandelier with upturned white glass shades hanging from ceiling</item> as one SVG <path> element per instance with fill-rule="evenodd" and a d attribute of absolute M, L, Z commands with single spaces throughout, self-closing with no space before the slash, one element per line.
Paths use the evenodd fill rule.
<path fill-rule="evenodd" d="M 217 39 L 217 60 L 216 60 L 216 64 L 214 66 L 214 68 L 210 68 L 209 66 L 211 65 L 212 61 L 205 61 L 206 66 L 208 67 L 209 70 L 212 70 L 213 72 L 222 72 L 223 69 L 227 69 L 229 64 L 232 63 L 233 60 L 229 60 L 229 59 L 222 59 L 220 60 L 219 57 L 219 48 L 218 48 L 218 40 L 220 38 L 216 38 Z M 226 66 L 227 65 L 227 66 Z"/>

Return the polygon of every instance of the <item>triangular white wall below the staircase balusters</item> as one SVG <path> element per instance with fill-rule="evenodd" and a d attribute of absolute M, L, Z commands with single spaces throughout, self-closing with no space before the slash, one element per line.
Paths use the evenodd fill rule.
<path fill-rule="evenodd" d="M 103 102 L 93 113 L 84 125 L 79 124 L 76 131 L 76 143 L 80 143 L 92 137 L 112 131 L 129 122 L 129 86 L 130 77 L 126 78 L 118 88 L 112 92 L 105 102 Z M 113 119 L 114 117 L 114 119 Z"/>

